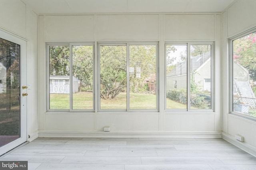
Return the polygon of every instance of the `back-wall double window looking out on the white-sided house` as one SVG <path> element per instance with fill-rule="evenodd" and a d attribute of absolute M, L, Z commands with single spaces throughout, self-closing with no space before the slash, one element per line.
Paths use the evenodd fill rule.
<path fill-rule="evenodd" d="M 213 110 L 212 46 L 166 44 L 166 109 Z"/>

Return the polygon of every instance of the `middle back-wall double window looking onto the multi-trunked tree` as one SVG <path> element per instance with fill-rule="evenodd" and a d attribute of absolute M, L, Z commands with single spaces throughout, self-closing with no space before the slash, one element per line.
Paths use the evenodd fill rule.
<path fill-rule="evenodd" d="M 157 109 L 157 45 L 99 44 L 100 111 Z"/>

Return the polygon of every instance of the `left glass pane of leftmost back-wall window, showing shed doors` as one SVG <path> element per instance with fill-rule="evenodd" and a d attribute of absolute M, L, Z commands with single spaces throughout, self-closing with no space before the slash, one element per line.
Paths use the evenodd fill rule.
<path fill-rule="evenodd" d="M 49 48 L 50 109 L 69 109 L 69 46 L 50 46 Z"/>

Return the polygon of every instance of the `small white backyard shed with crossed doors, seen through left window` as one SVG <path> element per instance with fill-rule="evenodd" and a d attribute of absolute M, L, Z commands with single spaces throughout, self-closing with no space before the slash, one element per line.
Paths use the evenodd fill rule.
<path fill-rule="evenodd" d="M 80 81 L 76 77 L 72 77 L 72 93 L 78 92 L 78 85 Z M 68 75 L 50 75 L 50 93 L 55 94 L 69 94 L 70 81 Z"/>

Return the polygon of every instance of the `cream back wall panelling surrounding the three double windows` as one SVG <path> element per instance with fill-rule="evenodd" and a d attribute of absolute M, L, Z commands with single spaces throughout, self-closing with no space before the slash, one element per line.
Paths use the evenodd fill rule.
<path fill-rule="evenodd" d="M 215 42 L 215 112 L 166 112 L 164 42 Z M 81 14 L 39 16 L 38 114 L 40 136 L 211 136 L 220 137 L 220 13 Z M 159 42 L 160 112 L 46 112 L 47 42 Z M 97 51 L 95 50 L 95 55 Z M 95 94 L 97 96 L 97 92 Z M 96 101 L 97 102 L 97 101 Z M 110 126 L 109 133 L 103 132 Z"/>

